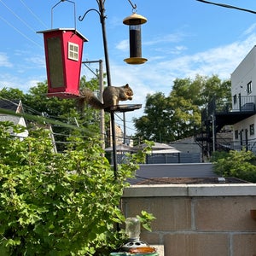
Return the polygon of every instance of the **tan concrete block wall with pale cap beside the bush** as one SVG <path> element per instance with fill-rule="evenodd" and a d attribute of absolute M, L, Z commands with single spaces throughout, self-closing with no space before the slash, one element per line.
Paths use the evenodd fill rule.
<path fill-rule="evenodd" d="M 126 217 L 154 214 L 141 239 L 167 256 L 256 255 L 256 184 L 133 185 L 122 207 Z"/>

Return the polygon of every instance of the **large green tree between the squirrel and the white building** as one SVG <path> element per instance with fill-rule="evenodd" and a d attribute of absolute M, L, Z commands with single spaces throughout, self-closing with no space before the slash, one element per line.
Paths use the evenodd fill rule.
<path fill-rule="evenodd" d="M 201 109 L 212 100 L 217 100 L 221 106 L 229 103 L 230 88 L 230 80 L 221 81 L 217 75 L 211 78 L 198 75 L 194 80 L 175 79 L 169 96 L 160 92 L 147 96 L 145 115 L 134 119 L 136 137 L 172 142 L 194 136 L 201 127 Z"/>

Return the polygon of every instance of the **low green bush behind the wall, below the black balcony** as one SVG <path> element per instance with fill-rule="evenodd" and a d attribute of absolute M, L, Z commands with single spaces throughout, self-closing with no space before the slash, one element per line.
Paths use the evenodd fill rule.
<path fill-rule="evenodd" d="M 231 150 L 215 152 L 212 155 L 214 172 L 223 177 L 238 177 L 256 183 L 256 156 L 245 148 L 241 151 Z"/>

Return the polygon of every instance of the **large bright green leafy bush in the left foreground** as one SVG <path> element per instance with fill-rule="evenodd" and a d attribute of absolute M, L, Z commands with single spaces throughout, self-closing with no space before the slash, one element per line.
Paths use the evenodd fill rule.
<path fill-rule="evenodd" d="M 45 130 L 20 141 L 11 129 L 20 131 L 0 123 L 1 255 L 108 255 L 119 244 L 115 225 L 125 220 L 125 180 L 143 153 L 119 166 L 115 179 L 98 138 L 70 137 L 54 154 Z"/>

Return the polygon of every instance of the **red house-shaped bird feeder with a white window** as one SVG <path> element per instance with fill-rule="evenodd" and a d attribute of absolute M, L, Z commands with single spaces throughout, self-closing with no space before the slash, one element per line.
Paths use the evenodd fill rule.
<path fill-rule="evenodd" d="M 39 33 L 44 33 L 47 96 L 79 96 L 83 44 L 88 39 L 73 28 L 57 28 Z"/>

